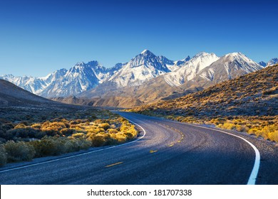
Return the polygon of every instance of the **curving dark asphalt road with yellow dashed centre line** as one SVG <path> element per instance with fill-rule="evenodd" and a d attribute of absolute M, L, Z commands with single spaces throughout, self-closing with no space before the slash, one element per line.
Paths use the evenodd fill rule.
<path fill-rule="evenodd" d="M 145 130 L 140 129 L 140 139 L 122 146 L 92 149 L 87 154 L 55 157 L 52 161 L 35 160 L 19 168 L 22 163 L 8 165 L 0 169 L 0 184 L 247 184 L 249 181 L 256 154 L 247 141 L 214 129 L 128 112 L 119 114 Z M 259 149 L 256 183 L 278 184 L 278 147 L 240 136 Z"/>

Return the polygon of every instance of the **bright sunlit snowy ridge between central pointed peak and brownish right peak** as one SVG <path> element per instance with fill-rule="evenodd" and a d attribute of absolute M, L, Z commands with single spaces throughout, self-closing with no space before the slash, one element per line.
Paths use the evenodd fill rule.
<path fill-rule="evenodd" d="M 185 61 L 180 68 L 164 75 L 169 85 L 179 86 L 192 80 L 200 70 L 214 63 L 219 58 L 214 53 L 198 53 L 192 59 Z"/>

